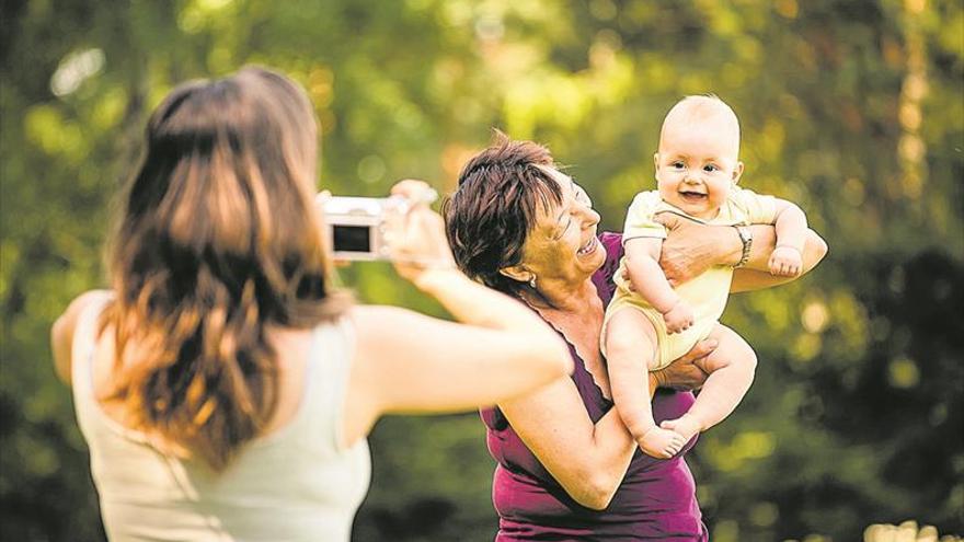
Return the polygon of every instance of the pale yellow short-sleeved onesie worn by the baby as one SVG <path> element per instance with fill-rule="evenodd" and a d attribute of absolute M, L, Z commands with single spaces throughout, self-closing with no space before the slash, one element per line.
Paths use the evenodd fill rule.
<path fill-rule="evenodd" d="M 733 186 L 726 201 L 720 206 L 720 214 L 712 220 L 701 220 L 691 217 L 678 208 L 663 201 L 658 191 L 641 192 L 633 198 L 629 212 L 626 217 L 626 226 L 622 230 L 623 246 L 631 239 L 655 238 L 666 239 L 666 229 L 655 222 L 653 218 L 661 212 L 674 212 L 690 220 L 707 224 L 758 224 L 773 223 L 777 216 L 777 201 L 773 196 L 764 196 L 753 191 Z M 650 370 L 658 370 L 673 360 L 679 358 L 697 342 L 702 341 L 710 334 L 713 326 L 723 314 L 726 307 L 726 298 L 730 295 L 730 282 L 733 279 L 733 268 L 725 265 L 713 266 L 702 275 L 676 287 L 676 293 L 688 303 L 693 311 L 693 325 L 682 333 L 669 335 L 666 333 L 666 323 L 663 314 L 651 305 L 642 296 L 630 291 L 627 281 L 622 278 L 626 272 L 626 257 L 619 263 L 616 273 L 616 293 L 606 309 L 606 319 L 602 322 L 602 337 L 606 336 L 606 324 L 616 311 L 623 308 L 632 308 L 642 312 L 653 327 L 656 328 L 658 348 Z M 606 354 L 605 338 L 602 353 Z"/>

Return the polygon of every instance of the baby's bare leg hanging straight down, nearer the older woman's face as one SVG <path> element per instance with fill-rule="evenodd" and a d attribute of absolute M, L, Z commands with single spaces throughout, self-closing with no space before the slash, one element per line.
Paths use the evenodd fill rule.
<path fill-rule="evenodd" d="M 686 440 L 657 427 L 650 404 L 649 371 L 656 355 L 656 330 L 641 312 L 623 308 L 609 318 L 605 334 L 609 385 L 619 416 L 644 452 L 654 458 L 675 455 Z"/>

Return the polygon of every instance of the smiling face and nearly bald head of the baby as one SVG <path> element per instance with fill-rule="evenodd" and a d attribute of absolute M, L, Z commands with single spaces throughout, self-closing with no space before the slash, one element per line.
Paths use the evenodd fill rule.
<path fill-rule="evenodd" d="M 709 220 L 743 173 L 739 125 L 723 102 L 699 96 L 701 103 L 688 107 L 689 100 L 693 99 L 677 104 L 663 123 L 659 151 L 653 157 L 656 181 L 664 201 Z M 710 100 L 715 103 L 704 102 Z"/>

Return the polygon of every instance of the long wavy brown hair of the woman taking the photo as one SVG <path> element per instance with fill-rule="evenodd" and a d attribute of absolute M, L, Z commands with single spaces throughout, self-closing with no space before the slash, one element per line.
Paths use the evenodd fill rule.
<path fill-rule="evenodd" d="M 307 95 L 263 68 L 182 84 L 147 126 L 108 251 L 107 401 L 216 471 L 278 404 L 266 328 L 311 327 L 347 304 L 325 279 L 317 155 Z"/>

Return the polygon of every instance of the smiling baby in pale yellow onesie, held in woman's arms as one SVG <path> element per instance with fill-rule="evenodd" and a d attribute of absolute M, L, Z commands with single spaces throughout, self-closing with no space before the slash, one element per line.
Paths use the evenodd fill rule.
<path fill-rule="evenodd" d="M 654 217 L 674 212 L 738 230 L 776 224 L 770 273 L 794 277 L 802 270 L 806 217 L 790 201 L 739 188 L 738 154 L 739 122 L 730 106 L 715 96 L 681 100 L 666 115 L 653 157 L 658 189 L 638 194 L 626 219 L 626 254 L 606 311 L 601 347 L 619 415 L 640 448 L 656 458 L 676 454 L 693 435 L 733 412 L 753 381 L 756 354 L 718 321 L 733 268 L 712 267 L 674 289 L 657 263 L 666 231 Z M 749 256 L 748 230 L 738 233 L 744 253 L 737 267 Z M 623 279 L 627 272 L 635 291 Z M 696 403 L 681 417 L 656 426 L 644 368 L 662 369 L 704 338 L 716 339 L 719 346 L 700 365 L 709 378 Z"/>

